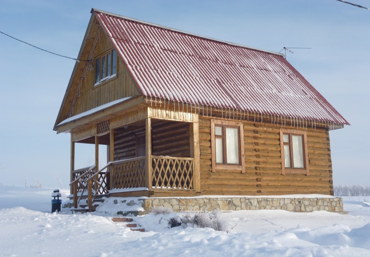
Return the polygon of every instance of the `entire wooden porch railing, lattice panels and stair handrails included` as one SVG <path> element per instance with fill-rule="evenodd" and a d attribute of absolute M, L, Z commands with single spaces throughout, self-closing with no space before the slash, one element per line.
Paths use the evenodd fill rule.
<path fill-rule="evenodd" d="M 194 158 L 151 156 L 149 167 L 154 190 L 194 191 Z M 89 212 L 92 202 L 110 189 L 147 187 L 145 184 L 145 156 L 108 162 L 96 171 L 95 165 L 72 172 L 73 205 L 77 208 L 83 196 L 87 197 Z M 148 183 L 148 182 L 147 182 Z M 85 191 L 87 194 L 84 195 Z"/>

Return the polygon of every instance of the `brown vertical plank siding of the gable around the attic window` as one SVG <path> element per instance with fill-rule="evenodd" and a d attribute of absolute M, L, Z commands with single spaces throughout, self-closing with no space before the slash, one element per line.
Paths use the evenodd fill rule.
<path fill-rule="evenodd" d="M 94 50 L 94 65 L 95 58 L 113 48 L 112 43 L 104 32 L 100 33 L 99 43 Z M 90 51 L 85 49 L 84 51 Z M 95 67 L 93 66 L 88 71 L 85 81 L 82 83 L 80 97 L 75 106 L 73 115 L 88 111 L 97 106 L 106 104 L 108 102 L 141 94 L 138 87 L 132 80 L 124 63 L 118 58 L 116 77 L 110 78 L 108 81 L 102 81 L 100 84 L 95 84 Z M 78 84 L 81 77 L 75 77 L 74 83 Z M 74 94 L 75 92 L 73 92 Z M 71 94 L 71 97 L 73 97 Z M 70 105 L 68 106 L 68 108 Z"/>

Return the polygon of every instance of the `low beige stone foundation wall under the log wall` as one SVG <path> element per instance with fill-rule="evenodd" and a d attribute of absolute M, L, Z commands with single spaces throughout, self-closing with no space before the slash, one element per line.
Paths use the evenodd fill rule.
<path fill-rule="evenodd" d="M 201 198 L 161 198 L 144 199 L 144 209 L 164 206 L 175 211 L 212 210 L 288 210 L 290 212 L 312 212 L 325 210 L 343 212 L 342 198 L 279 198 L 279 197 L 201 197 Z"/>

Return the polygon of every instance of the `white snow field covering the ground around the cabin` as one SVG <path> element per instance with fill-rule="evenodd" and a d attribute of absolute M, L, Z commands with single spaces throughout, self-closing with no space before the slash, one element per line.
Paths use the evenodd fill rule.
<path fill-rule="evenodd" d="M 349 214 L 283 210 L 222 213 L 236 226 L 168 228 L 174 214 L 134 217 L 131 231 L 110 214 L 51 214 L 48 188 L 0 186 L 0 256 L 370 256 L 370 197 L 344 197 Z M 63 200 L 69 190 L 61 190 Z"/>

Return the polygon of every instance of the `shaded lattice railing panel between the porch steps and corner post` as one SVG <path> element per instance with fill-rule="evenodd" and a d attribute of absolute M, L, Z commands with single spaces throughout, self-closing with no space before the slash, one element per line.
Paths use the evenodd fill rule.
<path fill-rule="evenodd" d="M 110 171 L 112 188 L 145 187 L 145 157 L 113 162 Z"/>

